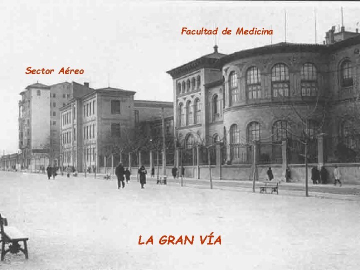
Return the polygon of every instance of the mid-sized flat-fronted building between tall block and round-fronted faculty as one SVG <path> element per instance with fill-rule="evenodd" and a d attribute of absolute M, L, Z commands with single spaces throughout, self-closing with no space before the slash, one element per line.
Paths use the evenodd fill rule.
<path fill-rule="evenodd" d="M 118 148 L 131 141 L 135 125 L 156 121 L 161 108 L 172 118 L 173 110 L 172 102 L 134 100 L 134 94 L 112 87 L 94 89 L 61 107 L 60 164 L 98 172 L 120 160 L 128 164 L 128 149 L 120 154 Z"/>

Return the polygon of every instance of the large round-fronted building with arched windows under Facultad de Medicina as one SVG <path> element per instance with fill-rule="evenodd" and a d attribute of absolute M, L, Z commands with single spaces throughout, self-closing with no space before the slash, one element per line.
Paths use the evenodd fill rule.
<path fill-rule="evenodd" d="M 282 42 L 228 55 L 214 46 L 167 71 L 178 143 L 193 149 L 222 142 L 222 178 L 238 177 L 230 166 L 251 163 L 255 144 L 257 162 L 278 163 L 281 175 L 304 162 L 305 138 L 310 163 L 359 162 L 359 49 L 358 31 L 344 27 L 330 29 L 324 44 Z"/>

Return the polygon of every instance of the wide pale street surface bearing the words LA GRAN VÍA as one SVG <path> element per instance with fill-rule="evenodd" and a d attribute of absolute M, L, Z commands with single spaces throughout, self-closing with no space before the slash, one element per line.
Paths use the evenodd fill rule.
<path fill-rule="evenodd" d="M 7 254 L 0 269 L 358 269 L 356 187 L 316 186 L 304 197 L 296 184 L 275 195 L 252 193 L 249 182 L 210 190 L 190 181 L 140 189 L 133 178 L 118 190 L 93 175 L 1 171 L 0 213 L 28 235 L 29 259 Z M 211 232 L 221 245 L 200 243 Z M 194 241 L 160 245 L 162 235 Z"/>

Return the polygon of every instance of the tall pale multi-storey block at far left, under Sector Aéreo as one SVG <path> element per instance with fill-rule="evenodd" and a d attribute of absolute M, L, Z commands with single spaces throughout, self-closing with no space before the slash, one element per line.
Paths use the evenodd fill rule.
<path fill-rule="evenodd" d="M 60 154 L 59 108 L 71 98 L 92 91 L 88 83 L 61 82 L 51 86 L 34 83 L 20 92 L 18 136 L 20 167 L 39 169 L 58 165 Z"/>

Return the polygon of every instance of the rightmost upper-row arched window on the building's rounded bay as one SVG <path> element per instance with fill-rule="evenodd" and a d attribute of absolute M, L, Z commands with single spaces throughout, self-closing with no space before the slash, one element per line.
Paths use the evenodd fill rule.
<path fill-rule="evenodd" d="M 317 70 L 312 63 L 305 63 L 301 68 L 301 95 L 317 95 Z"/>

